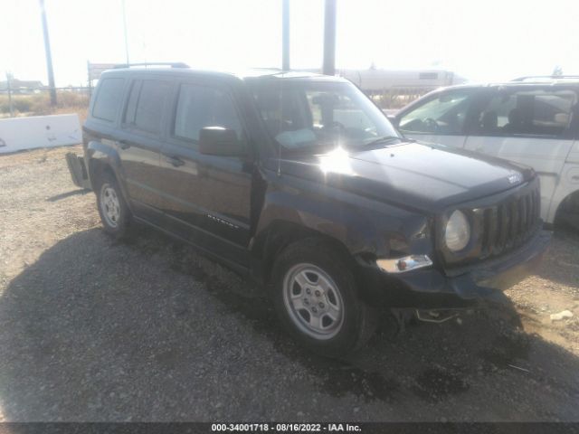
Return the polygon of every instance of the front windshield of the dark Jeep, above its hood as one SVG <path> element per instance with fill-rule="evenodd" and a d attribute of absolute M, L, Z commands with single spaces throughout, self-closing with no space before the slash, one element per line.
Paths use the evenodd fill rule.
<path fill-rule="evenodd" d="M 400 135 L 372 101 L 351 83 L 253 80 L 265 126 L 286 150 L 361 147 Z"/>

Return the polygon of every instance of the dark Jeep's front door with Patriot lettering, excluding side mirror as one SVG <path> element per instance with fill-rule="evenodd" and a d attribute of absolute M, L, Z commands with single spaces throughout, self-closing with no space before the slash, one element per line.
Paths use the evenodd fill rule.
<path fill-rule="evenodd" d="M 203 127 L 233 129 L 246 146 L 233 91 L 219 81 L 184 80 L 171 111 L 160 161 L 171 231 L 222 258 L 246 262 L 253 165 L 249 157 L 209 156 L 198 147 Z"/>

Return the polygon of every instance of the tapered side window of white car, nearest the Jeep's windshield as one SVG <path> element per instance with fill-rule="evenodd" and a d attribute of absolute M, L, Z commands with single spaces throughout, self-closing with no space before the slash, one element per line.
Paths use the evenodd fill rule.
<path fill-rule="evenodd" d="M 406 113 L 399 129 L 404 133 L 462 134 L 472 97 L 471 90 L 442 93 Z"/>

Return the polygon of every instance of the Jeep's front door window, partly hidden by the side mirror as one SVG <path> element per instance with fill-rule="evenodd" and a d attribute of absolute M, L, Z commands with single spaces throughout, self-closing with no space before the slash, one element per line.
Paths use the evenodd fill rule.
<path fill-rule="evenodd" d="M 242 124 L 230 95 L 219 89 L 182 84 L 177 101 L 175 137 L 196 143 L 204 127 L 233 129 L 242 137 Z"/>

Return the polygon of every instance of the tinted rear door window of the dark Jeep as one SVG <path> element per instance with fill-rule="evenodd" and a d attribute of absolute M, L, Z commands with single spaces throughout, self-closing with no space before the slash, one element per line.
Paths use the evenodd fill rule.
<path fill-rule="evenodd" d="M 168 91 L 169 85 L 165 81 L 134 81 L 123 122 L 147 133 L 159 134 Z"/>

